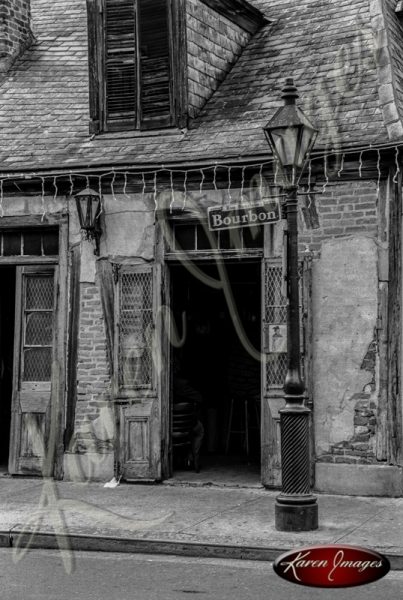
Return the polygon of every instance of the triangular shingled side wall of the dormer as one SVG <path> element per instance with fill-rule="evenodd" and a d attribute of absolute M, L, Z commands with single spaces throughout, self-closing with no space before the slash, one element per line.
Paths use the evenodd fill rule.
<path fill-rule="evenodd" d="M 250 39 L 200 0 L 186 2 L 189 116 L 195 117 Z"/>

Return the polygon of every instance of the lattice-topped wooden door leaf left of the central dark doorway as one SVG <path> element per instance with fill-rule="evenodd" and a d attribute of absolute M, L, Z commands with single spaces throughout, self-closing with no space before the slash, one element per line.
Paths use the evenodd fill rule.
<path fill-rule="evenodd" d="M 159 265 L 122 265 L 115 278 L 119 474 L 127 481 L 161 479 L 160 273 Z"/>

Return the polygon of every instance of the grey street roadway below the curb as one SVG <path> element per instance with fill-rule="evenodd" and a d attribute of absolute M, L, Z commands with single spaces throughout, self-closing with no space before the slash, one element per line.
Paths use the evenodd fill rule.
<path fill-rule="evenodd" d="M 0 549 L 2 600 L 397 600 L 403 573 L 354 588 L 311 588 L 284 581 L 263 561 L 77 552 L 71 571 L 56 550 L 18 562 Z"/>

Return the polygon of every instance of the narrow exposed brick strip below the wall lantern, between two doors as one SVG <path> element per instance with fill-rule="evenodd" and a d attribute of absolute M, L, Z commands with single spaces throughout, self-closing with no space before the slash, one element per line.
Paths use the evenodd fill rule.
<path fill-rule="evenodd" d="M 81 283 L 74 451 L 111 448 L 109 423 L 102 427 L 99 420 L 110 407 L 110 379 L 99 289 L 92 283 Z"/>

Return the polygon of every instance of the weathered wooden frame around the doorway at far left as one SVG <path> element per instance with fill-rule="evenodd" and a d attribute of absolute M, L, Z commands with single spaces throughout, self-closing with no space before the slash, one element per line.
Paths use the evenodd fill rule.
<path fill-rule="evenodd" d="M 30 228 L 46 230 L 49 227 L 58 228 L 59 253 L 52 256 L 0 256 L 0 266 L 25 266 L 25 265 L 55 265 L 55 342 L 54 360 L 51 375 L 50 396 L 50 426 L 48 437 L 48 460 L 44 464 L 43 476 L 63 478 L 64 443 L 63 431 L 65 428 L 65 388 L 66 388 L 66 363 L 67 363 L 67 319 L 68 319 L 68 232 L 69 217 L 67 213 L 42 215 L 23 215 L 2 217 L 0 219 L 0 232 L 7 230 L 28 230 Z M 17 315 L 15 316 L 17 320 Z M 14 394 L 14 377 L 13 390 Z M 9 462 L 15 448 L 11 448 L 12 439 L 10 423 L 10 449 Z"/>

